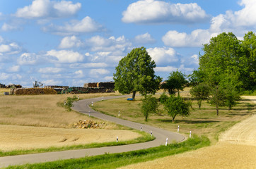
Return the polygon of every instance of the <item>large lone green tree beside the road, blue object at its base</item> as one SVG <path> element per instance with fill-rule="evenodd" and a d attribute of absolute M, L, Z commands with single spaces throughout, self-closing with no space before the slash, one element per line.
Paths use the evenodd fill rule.
<path fill-rule="evenodd" d="M 132 99 L 135 99 L 136 92 L 144 96 L 155 94 L 159 89 L 161 77 L 155 75 L 153 68 L 156 68 L 156 63 L 152 61 L 146 48 L 132 49 L 115 68 L 115 90 L 121 94 L 132 92 Z"/>

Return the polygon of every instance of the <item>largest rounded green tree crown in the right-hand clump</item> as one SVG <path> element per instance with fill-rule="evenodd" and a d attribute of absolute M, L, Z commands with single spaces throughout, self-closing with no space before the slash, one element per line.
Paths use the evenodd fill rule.
<path fill-rule="evenodd" d="M 208 82 L 218 85 L 223 74 L 239 75 L 238 61 L 243 56 L 240 44 L 230 32 L 212 37 L 209 44 L 204 44 L 204 55 L 199 56 L 199 70 L 205 73 Z"/>

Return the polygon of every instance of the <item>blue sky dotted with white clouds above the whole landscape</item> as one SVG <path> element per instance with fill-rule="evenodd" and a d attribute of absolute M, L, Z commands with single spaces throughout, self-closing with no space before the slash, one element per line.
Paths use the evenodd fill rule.
<path fill-rule="evenodd" d="M 255 9 L 254 0 L 1 0 L 0 83 L 112 81 L 140 46 L 163 80 L 177 69 L 190 74 L 211 37 L 255 32 Z"/>

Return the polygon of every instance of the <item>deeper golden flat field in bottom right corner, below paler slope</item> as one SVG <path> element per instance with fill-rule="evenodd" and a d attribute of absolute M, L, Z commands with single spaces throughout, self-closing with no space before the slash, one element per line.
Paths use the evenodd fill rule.
<path fill-rule="evenodd" d="M 256 146 L 236 145 L 228 142 L 220 142 L 215 146 L 190 151 L 176 156 L 138 163 L 124 167 L 128 168 L 252 168 L 256 166 Z M 124 169 L 122 168 L 122 169 Z"/>

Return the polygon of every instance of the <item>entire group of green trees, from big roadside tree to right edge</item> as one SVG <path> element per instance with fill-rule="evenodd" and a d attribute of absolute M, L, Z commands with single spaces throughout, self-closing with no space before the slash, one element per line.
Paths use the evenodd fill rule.
<path fill-rule="evenodd" d="M 132 93 L 133 99 L 136 92 L 145 96 L 141 111 L 146 120 L 147 113 L 157 109 L 157 102 L 147 94 L 155 94 L 160 87 L 170 94 L 163 105 L 173 120 L 179 113 L 189 115 L 189 105 L 179 96 L 180 90 L 188 84 L 192 86 L 190 93 L 197 99 L 199 108 L 203 100 L 209 99 L 209 103 L 216 106 L 217 115 L 220 106 L 231 109 L 240 99 L 241 91 L 255 90 L 256 36 L 253 32 L 245 34 L 243 41 L 238 40 L 233 33 L 223 32 L 211 38 L 202 50 L 204 54 L 199 56 L 199 68 L 188 79 L 177 70 L 170 73 L 168 80 L 160 85 L 162 78 L 155 75 L 153 68 L 156 68 L 156 63 L 151 60 L 146 49 L 133 49 L 116 67 L 115 90 L 122 94 Z M 178 97 L 173 96 L 176 92 Z"/>

